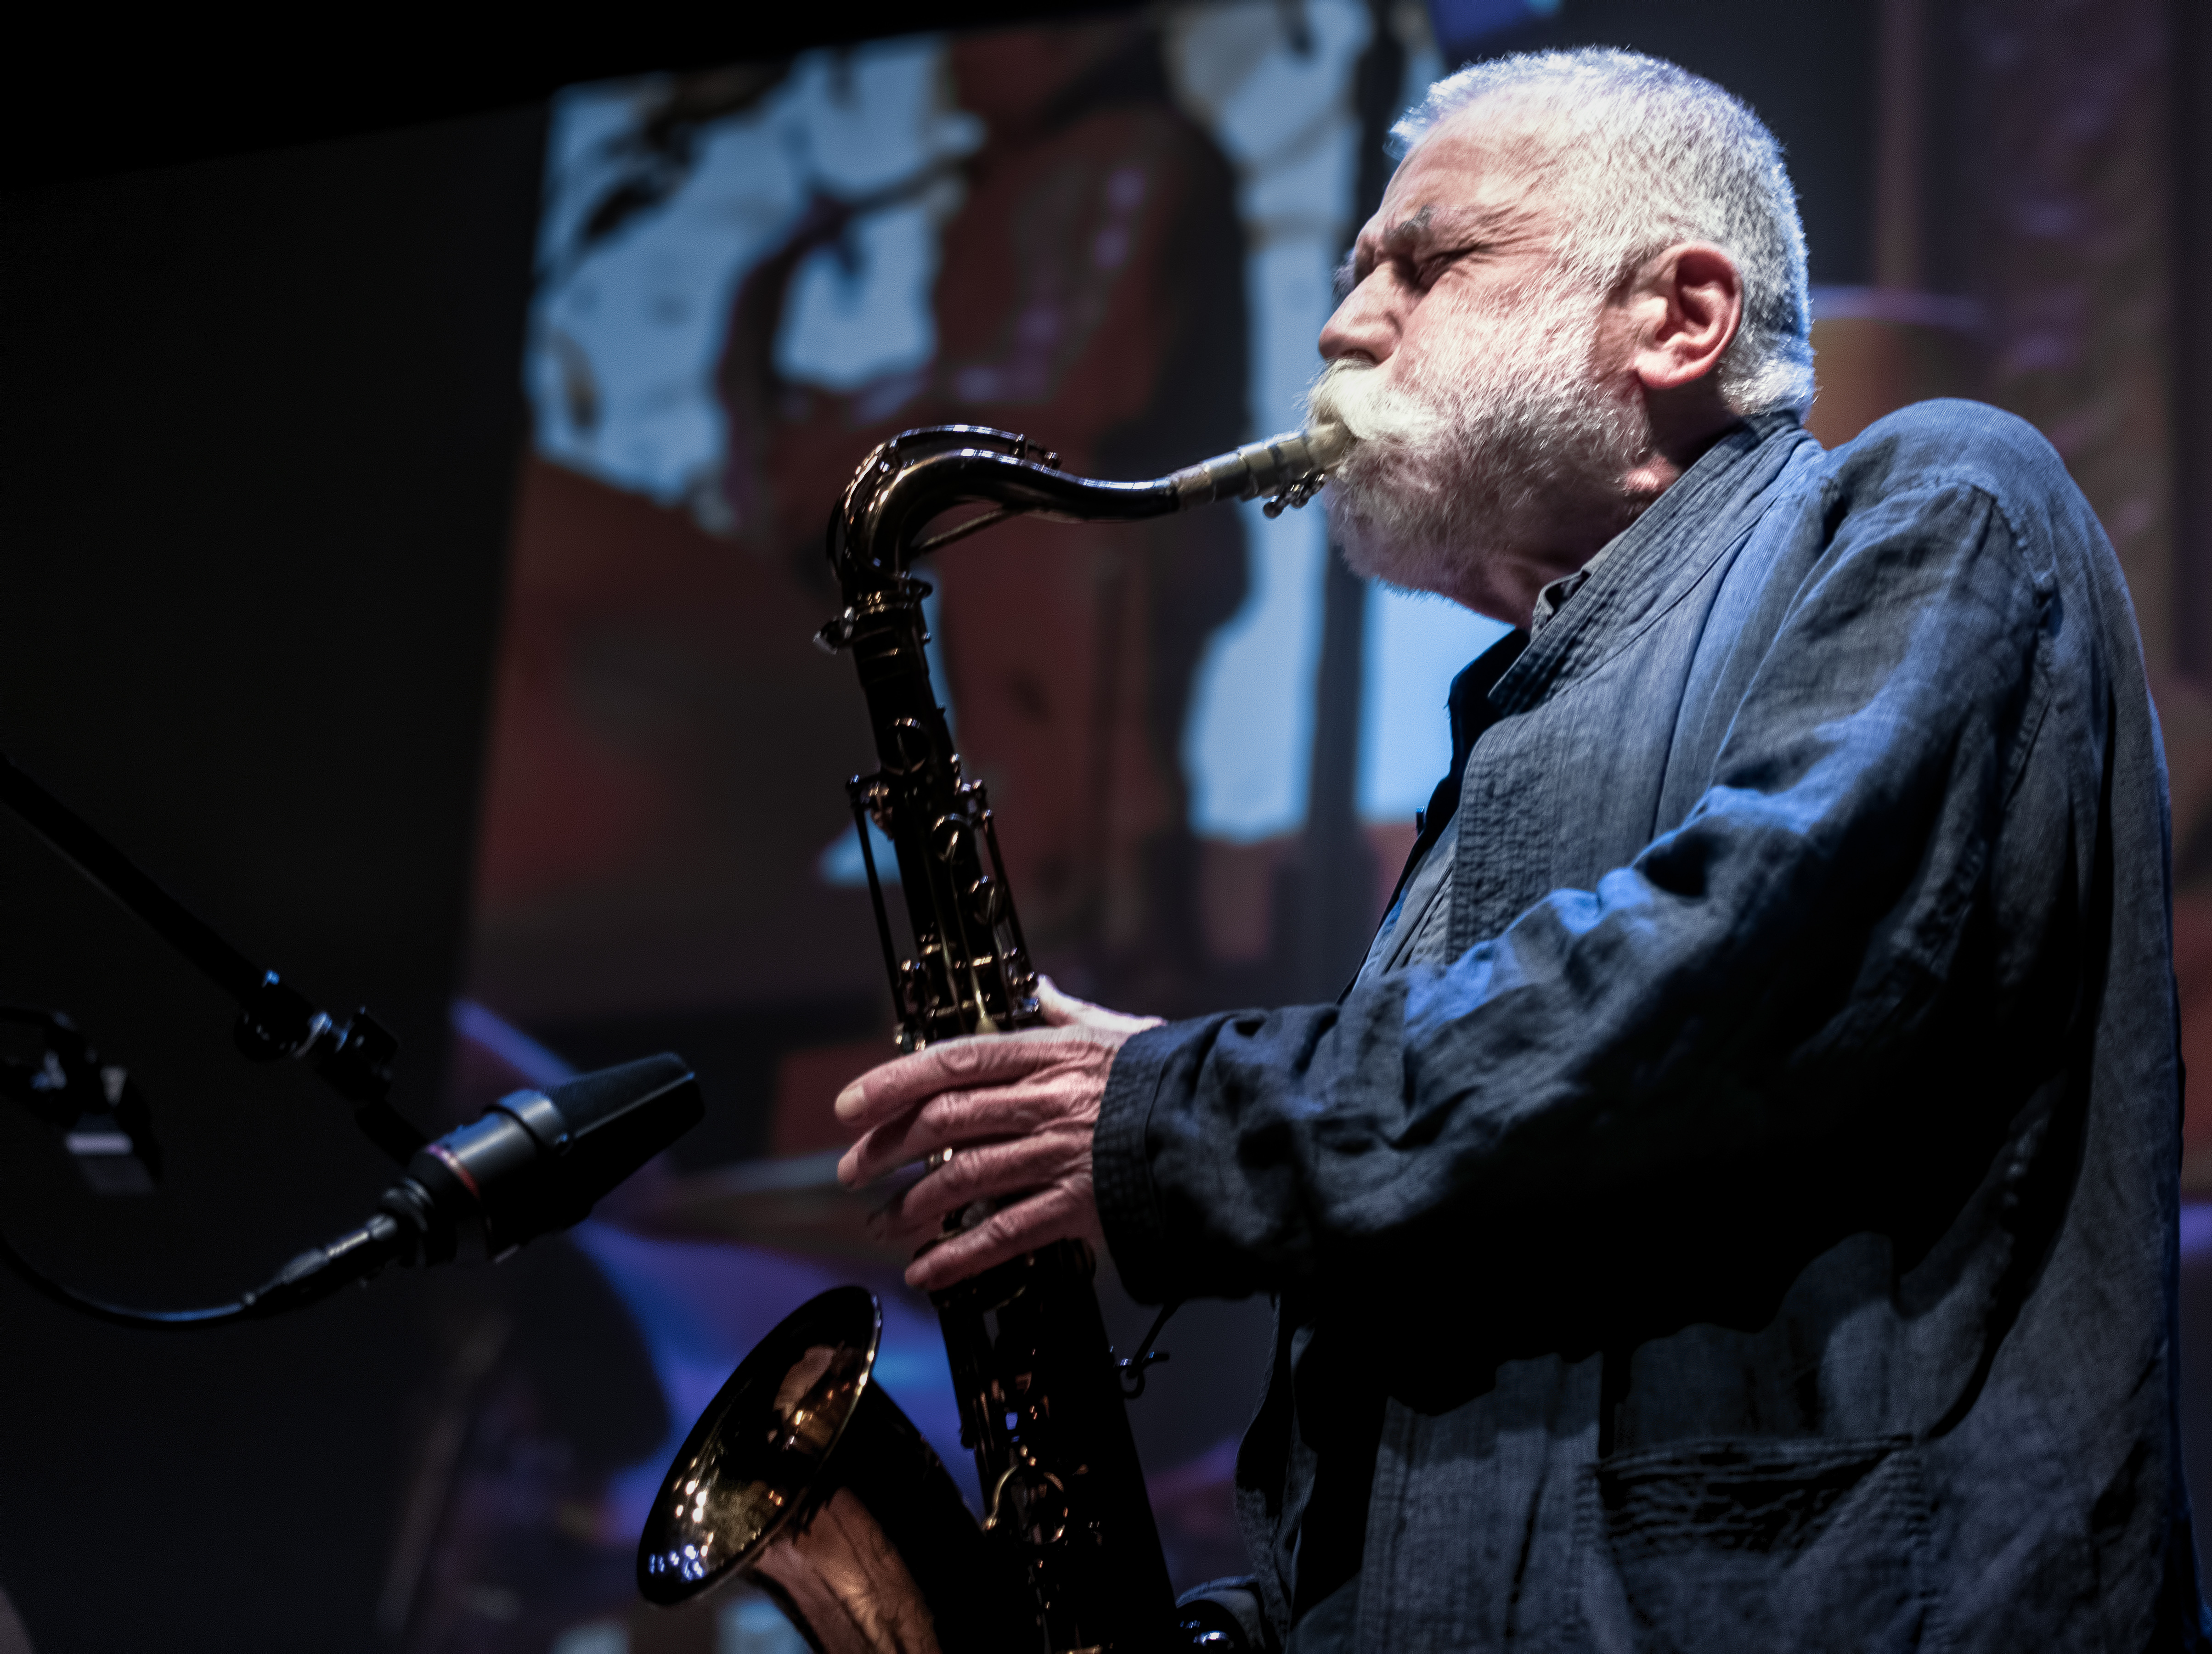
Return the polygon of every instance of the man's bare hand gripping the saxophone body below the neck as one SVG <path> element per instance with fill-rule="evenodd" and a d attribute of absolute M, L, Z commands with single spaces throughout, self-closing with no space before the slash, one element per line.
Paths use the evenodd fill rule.
<path fill-rule="evenodd" d="M 1126 1017 L 1037 982 L 1046 1026 L 945 1039 L 887 1061 L 836 1099 L 860 1139 L 838 1163 L 847 1187 L 922 1161 L 929 1170 L 878 1216 L 885 1238 L 929 1245 L 907 1285 L 938 1291 L 1048 1240 L 1082 1238 L 1104 1252 L 1091 1183 L 1091 1132 L 1115 1053 L 1157 1017 Z M 942 1236 L 945 1218 L 975 1201 L 1000 1210 Z"/>

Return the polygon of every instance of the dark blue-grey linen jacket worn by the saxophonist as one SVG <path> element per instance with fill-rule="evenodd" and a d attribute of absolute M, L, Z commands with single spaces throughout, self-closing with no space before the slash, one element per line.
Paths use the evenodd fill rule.
<path fill-rule="evenodd" d="M 1274 1627 L 2203 1645 L 2166 776 L 2051 447 L 1750 420 L 1484 716 L 1442 955 L 1137 1035 L 1097 1123 L 1133 1294 L 1276 1298 Z"/>

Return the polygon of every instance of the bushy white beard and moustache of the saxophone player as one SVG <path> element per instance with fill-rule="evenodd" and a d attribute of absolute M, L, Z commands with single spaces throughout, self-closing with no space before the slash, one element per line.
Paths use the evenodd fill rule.
<path fill-rule="evenodd" d="M 1327 486 L 1345 562 L 1447 597 L 1486 584 L 1480 562 L 1542 544 L 1562 509 L 1617 498 L 1648 447 L 1641 407 L 1590 367 L 1586 290 L 1546 283 L 1458 321 L 1418 360 L 1329 363 L 1307 394 L 1310 422 L 1354 436 Z"/>

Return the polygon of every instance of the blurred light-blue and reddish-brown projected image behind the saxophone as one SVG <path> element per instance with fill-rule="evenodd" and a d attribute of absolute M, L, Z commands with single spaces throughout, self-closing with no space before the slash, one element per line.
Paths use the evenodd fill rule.
<path fill-rule="evenodd" d="M 876 986 L 836 785 L 869 752 L 847 668 L 807 650 L 830 504 L 914 425 L 1104 478 L 1294 427 L 1374 35 L 1365 4 L 1206 7 L 562 100 L 482 999 L 535 1026 Z M 1418 29 L 1383 44 L 1394 93 L 1433 77 Z M 1062 982 L 1168 1013 L 1270 986 L 1325 692 L 1363 712 L 1363 818 L 1409 838 L 1449 677 L 1495 628 L 1378 595 L 1365 672 L 1323 685 L 1325 553 L 1318 513 L 1254 506 L 1013 522 L 925 570 Z"/>

